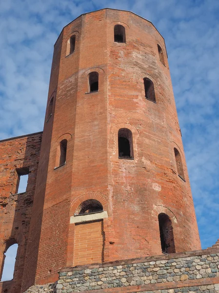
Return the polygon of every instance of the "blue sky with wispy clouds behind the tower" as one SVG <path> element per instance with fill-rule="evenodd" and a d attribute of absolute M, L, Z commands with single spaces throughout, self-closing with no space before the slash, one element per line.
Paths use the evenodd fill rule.
<path fill-rule="evenodd" d="M 165 38 L 202 248 L 219 238 L 219 1 L 0 1 L 0 139 L 41 131 L 53 45 L 101 8 L 131 10 Z"/>

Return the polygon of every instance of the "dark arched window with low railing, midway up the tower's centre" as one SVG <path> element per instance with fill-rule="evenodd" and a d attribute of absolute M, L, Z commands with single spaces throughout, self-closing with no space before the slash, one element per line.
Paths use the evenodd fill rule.
<path fill-rule="evenodd" d="M 118 132 L 118 146 L 120 159 L 134 159 L 132 131 L 128 128 L 120 128 Z"/>

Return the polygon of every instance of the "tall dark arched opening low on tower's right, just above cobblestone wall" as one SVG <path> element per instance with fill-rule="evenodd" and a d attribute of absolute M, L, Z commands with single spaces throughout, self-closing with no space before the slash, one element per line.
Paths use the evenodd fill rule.
<path fill-rule="evenodd" d="M 159 220 L 159 234 L 161 249 L 164 253 L 175 253 L 175 243 L 173 236 L 173 227 L 171 219 L 165 213 L 160 213 Z"/>

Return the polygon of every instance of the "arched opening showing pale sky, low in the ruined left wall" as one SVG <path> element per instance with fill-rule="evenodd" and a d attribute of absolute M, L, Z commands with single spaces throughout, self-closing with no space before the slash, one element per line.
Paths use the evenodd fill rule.
<path fill-rule="evenodd" d="M 6 248 L 3 256 L 2 268 L 1 268 L 1 282 L 9 281 L 13 279 L 15 270 L 15 261 L 18 251 L 18 244 L 14 239 L 10 239 L 6 243 Z"/>

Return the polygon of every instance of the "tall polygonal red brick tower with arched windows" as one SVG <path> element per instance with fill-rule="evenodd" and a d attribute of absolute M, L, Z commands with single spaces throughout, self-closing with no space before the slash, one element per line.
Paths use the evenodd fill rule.
<path fill-rule="evenodd" d="M 83 14 L 54 47 L 22 290 L 198 249 L 164 39 L 132 12 Z"/>

